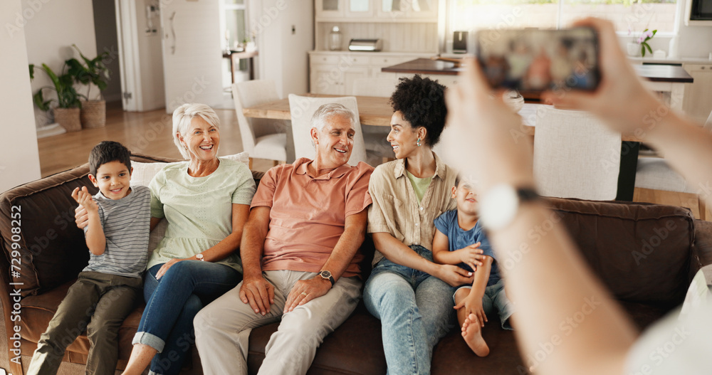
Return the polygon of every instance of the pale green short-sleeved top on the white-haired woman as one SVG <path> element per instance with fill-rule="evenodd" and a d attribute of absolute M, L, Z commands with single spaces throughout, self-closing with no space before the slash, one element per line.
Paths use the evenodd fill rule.
<path fill-rule="evenodd" d="M 247 204 L 255 181 L 244 163 L 220 159 L 209 176 L 188 174 L 188 163 L 170 164 L 152 179 L 151 216 L 167 218 L 166 236 L 153 251 L 147 268 L 173 258 L 189 258 L 232 233 L 232 204 Z M 242 273 L 239 252 L 215 263 Z"/>

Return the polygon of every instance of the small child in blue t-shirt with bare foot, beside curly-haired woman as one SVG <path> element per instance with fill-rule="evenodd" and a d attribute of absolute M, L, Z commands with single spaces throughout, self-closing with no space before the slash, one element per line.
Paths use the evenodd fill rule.
<path fill-rule="evenodd" d="M 435 219 L 433 259 L 475 273 L 472 285 L 462 285 L 455 291 L 454 308 L 468 347 L 478 356 L 486 356 L 489 347 L 481 329 L 487 322 L 487 314 L 496 309 L 502 328 L 512 329 L 509 319 L 513 305 L 504 292 L 495 255 L 478 221 L 477 194 L 473 188 L 471 181 L 456 179 L 452 197 L 457 208 Z M 482 262 L 478 261 L 480 254 L 485 255 Z"/>

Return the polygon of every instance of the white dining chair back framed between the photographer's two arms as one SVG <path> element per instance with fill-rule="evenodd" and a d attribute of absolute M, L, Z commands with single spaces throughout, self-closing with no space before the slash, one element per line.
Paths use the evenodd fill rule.
<path fill-rule="evenodd" d="M 533 171 L 540 194 L 615 199 L 621 159 L 619 132 L 609 130 L 587 112 L 553 107 L 538 108 L 535 130 Z"/>

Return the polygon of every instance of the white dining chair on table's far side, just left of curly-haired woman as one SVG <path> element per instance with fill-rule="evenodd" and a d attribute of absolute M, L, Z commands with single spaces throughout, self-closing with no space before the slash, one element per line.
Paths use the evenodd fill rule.
<path fill-rule="evenodd" d="M 396 90 L 398 78 L 359 78 L 354 80 L 353 95 L 390 97 Z M 376 157 L 393 159 L 393 148 L 387 141 L 390 127 L 363 125 L 363 140 L 366 152 Z"/>

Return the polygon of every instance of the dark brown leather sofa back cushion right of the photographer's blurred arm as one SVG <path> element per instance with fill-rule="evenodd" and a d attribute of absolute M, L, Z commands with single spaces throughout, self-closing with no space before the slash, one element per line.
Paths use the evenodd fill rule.
<path fill-rule="evenodd" d="M 547 199 L 582 255 L 619 300 L 671 309 L 684 300 L 694 241 L 687 208 L 630 202 Z M 533 228 L 545 236 L 551 223 Z"/>

